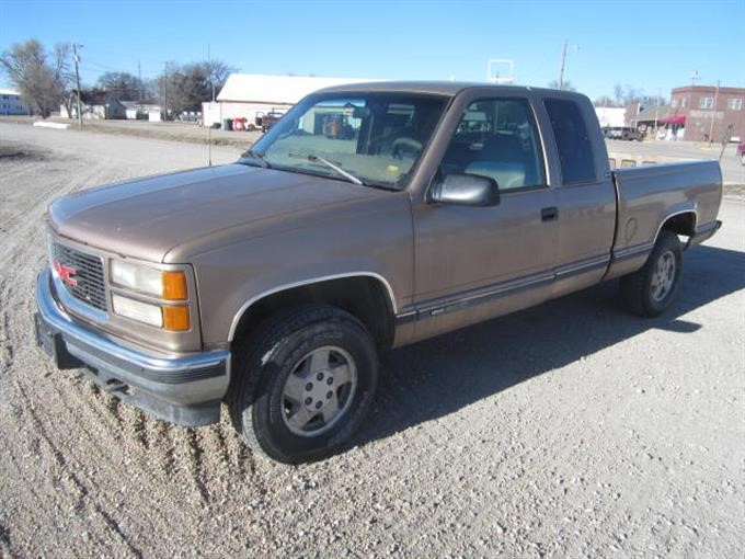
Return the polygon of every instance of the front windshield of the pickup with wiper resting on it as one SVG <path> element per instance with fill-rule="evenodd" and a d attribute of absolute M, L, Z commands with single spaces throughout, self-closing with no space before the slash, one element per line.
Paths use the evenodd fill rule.
<path fill-rule="evenodd" d="M 446 99 L 401 93 L 314 94 L 293 107 L 240 162 L 402 190 Z"/>

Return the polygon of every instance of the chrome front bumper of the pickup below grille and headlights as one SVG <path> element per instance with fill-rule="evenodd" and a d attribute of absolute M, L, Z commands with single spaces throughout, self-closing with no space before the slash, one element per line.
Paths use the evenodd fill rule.
<path fill-rule="evenodd" d="M 230 383 L 230 352 L 173 357 L 117 343 L 59 306 L 48 269 L 36 278 L 36 306 L 37 343 L 58 368 L 81 368 L 121 400 L 177 425 L 219 421 L 220 401 Z"/>

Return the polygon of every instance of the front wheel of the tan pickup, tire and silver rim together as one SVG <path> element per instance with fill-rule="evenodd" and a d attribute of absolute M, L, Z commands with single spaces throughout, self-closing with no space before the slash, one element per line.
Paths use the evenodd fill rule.
<path fill-rule="evenodd" d="M 260 328 L 236 375 L 230 408 L 243 440 L 283 463 L 314 460 L 337 452 L 369 409 L 375 342 L 352 315 L 311 305 Z"/>

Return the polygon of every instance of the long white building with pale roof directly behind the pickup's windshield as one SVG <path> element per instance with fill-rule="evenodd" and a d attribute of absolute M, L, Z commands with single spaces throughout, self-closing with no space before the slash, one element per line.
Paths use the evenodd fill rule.
<path fill-rule="evenodd" d="M 316 78 L 307 76 L 264 76 L 231 73 L 217 95 L 216 103 L 203 103 L 205 126 L 225 118 L 247 118 L 249 124 L 266 113 L 285 113 L 313 91 L 344 83 L 359 83 L 354 78 Z"/>

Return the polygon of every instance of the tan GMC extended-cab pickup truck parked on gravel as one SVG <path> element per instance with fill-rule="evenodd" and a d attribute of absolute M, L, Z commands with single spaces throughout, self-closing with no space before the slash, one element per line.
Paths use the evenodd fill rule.
<path fill-rule="evenodd" d="M 611 171 L 577 93 L 334 87 L 233 164 L 51 204 L 36 335 L 157 418 L 226 406 L 255 450 L 319 459 L 365 421 L 382 351 L 612 278 L 663 312 L 721 184 L 715 161 Z"/>

